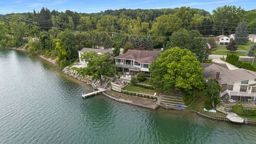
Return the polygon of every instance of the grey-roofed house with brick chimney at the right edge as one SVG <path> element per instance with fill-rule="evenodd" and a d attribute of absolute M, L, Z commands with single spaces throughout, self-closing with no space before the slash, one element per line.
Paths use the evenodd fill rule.
<path fill-rule="evenodd" d="M 239 68 L 229 70 L 226 64 L 202 63 L 203 76 L 214 78 L 221 86 L 220 97 L 235 100 L 256 100 L 256 72 Z"/>

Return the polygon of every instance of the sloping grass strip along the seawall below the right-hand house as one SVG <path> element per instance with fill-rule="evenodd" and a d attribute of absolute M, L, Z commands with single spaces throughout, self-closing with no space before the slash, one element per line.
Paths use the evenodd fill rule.
<path fill-rule="evenodd" d="M 227 116 L 218 111 L 217 111 L 217 113 L 211 113 L 209 111 L 204 111 L 204 100 L 205 100 L 205 98 L 198 98 L 194 103 L 192 103 L 192 105 L 190 105 L 186 109 L 196 110 L 196 111 L 199 111 L 200 113 L 203 113 L 203 114 L 209 115 L 209 116 L 216 116 L 216 117 L 226 117 Z"/>

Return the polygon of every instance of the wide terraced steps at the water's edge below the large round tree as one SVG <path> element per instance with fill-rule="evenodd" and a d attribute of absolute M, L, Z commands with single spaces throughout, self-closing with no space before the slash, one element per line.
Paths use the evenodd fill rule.
<path fill-rule="evenodd" d="M 182 97 L 175 97 L 171 95 L 161 95 L 161 102 L 159 103 L 166 106 L 172 106 L 172 105 L 185 106 L 185 102 L 183 101 Z"/>

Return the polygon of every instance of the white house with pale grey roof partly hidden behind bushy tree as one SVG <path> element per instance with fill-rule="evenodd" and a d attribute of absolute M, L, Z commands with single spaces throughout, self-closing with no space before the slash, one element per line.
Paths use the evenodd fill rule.
<path fill-rule="evenodd" d="M 113 54 L 113 50 L 111 49 L 93 49 L 93 48 L 83 48 L 81 51 L 78 51 L 78 55 L 79 55 L 79 62 L 81 64 L 83 64 L 85 67 L 87 67 L 87 62 L 83 59 L 81 59 L 81 55 L 84 52 L 90 52 L 90 51 L 94 51 L 97 52 L 97 54 L 105 54 L 105 53 L 110 53 L 111 55 Z"/>

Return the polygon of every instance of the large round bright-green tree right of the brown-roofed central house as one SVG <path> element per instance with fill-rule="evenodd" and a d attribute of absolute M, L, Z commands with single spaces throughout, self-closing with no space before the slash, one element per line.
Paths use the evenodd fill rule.
<path fill-rule="evenodd" d="M 150 67 L 151 84 L 157 91 L 171 92 L 178 90 L 186 94 L 203 85 L 203 68 L 196 59 L 196 54 L 179 47 L 164 51 Z"/>

